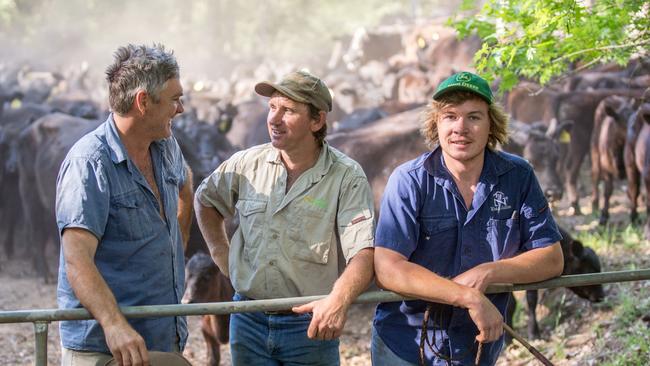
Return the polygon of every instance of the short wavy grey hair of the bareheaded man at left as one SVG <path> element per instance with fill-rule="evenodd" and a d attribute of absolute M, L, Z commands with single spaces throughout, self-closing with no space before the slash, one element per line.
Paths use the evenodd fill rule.
<path fill-rule="evenodd" d="M 129 44 L 115 51 L 115 60 L 106 68 L 108 102 L 113 112 L 126 114 L 135 95 L 143 90 L 158 103 L 160 91 L 169 79 L 179 77 L 178 63 L 173 51 L 165 46 Z"/>

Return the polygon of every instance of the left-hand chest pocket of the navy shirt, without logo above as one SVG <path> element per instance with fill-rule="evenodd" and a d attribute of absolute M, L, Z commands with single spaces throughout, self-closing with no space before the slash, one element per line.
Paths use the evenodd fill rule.
<path fill-rule="evenodd" d="M 423 217 L 419 235 L 418 249 L 413 253 L 412 260 L 438 275 L 452 275 L 458 241 L 456 218 Z"/>

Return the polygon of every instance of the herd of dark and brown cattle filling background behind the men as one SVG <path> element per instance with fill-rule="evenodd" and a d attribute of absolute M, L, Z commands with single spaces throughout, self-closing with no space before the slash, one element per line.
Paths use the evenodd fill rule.
<path fill-rule="evenodd" d="M 376 205 L 392 170 L 427 150 L 419 118 L 433 87 L 456 71 L 470 69 L 479 47 L 478 39 L 459 41 L 441 25 L 360 30 L 340 40 L 327 65 L 316 72 L 334 96 L 328 141 L 362 165 Z M 253 94 L 253 85 L 277 80 L 289 70 L 288 65 L 264 63 L 250 70 L 242 67 L 229 79 L 184 80 L 186 112 L 173 128 L 195 184 L 235 151 L 269 141 L 266 105 Z M 588 190 L 578 187 L 587 158 L 592 210 L 600 209 L 601 224 L 609 218 L 613 181 L 626 179 L 630 220 L 636 222 L 641 180 L 650 211 L 650 60 L 568 74 L 544 88 L 521 82 L 503 96 L 511 115 L 511 138 L 502 148 L 526 158 L 549 201 L 566 200 L 575 215 L 581 214 L 579 193 Z M 56 253 L 59 245 L 54 220 L 58 168 L 72 144 L 105 120 L 103 89 L 90 81 L 86 67 L 45 72 L 27 64 L 0 63 L 0 250 L 5 258 L 33 260 L 45 281 L 56 270 L 50 268 L 47 250 Z M 231 223 L 231 230 L 235 226 Z M 647 219 L 644 231 L 650 239 Z M 600 270 L 593 251 L 570 243 L 575 241 L 563 243 L 565 257 L 571 259 L 565 273 Z M 194 224 L 187 258 L 205 251 L 204 246 Z M 196 288 L 200 281 L 191 280 L 220 275 L 204 262 L 205 257 L 189 262 L 186 301 L 227 299 L 232 291 L 222 288 L 229 286 L 227 281 L 212 281 L 219 288 L 207 294 L 208 289 Z M 602 288 L 576 293 L 591 301 L 604 296 Z M 531 294 L 529 301 L 532 305 L 536 298 Z M 216 352 L 213 362 L 218 344 L 227 338 L 222 323 L 216 318 L 203 322 L 206 341 Z M 538 334 L 536 327 L 530 325 L 531 336 Z"/>

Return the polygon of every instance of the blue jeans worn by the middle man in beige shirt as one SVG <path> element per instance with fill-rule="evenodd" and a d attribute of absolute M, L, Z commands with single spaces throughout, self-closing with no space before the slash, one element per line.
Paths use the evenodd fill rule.
<path fill-rule="evenodd" d="M 242 296 L 235 294 L 235 301 Z M 234 366 L 338 366 L 339 340 L 307 338 L 311 314 L 230 315 L 230 355 Z"/>

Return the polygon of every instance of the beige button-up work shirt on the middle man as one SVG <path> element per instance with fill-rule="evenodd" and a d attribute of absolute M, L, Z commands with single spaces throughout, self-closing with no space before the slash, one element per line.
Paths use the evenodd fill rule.
<path fill-rule="evenodd" d="M 286 182 L 269 143 L 233 155 L 196 193 L 224 217 L 236 209 L 230 279 L 252 299 L 328 294 L 345 264 L 373 245 L 372 192 L 357 162 L 325 143 L 285 194 Z"/>

